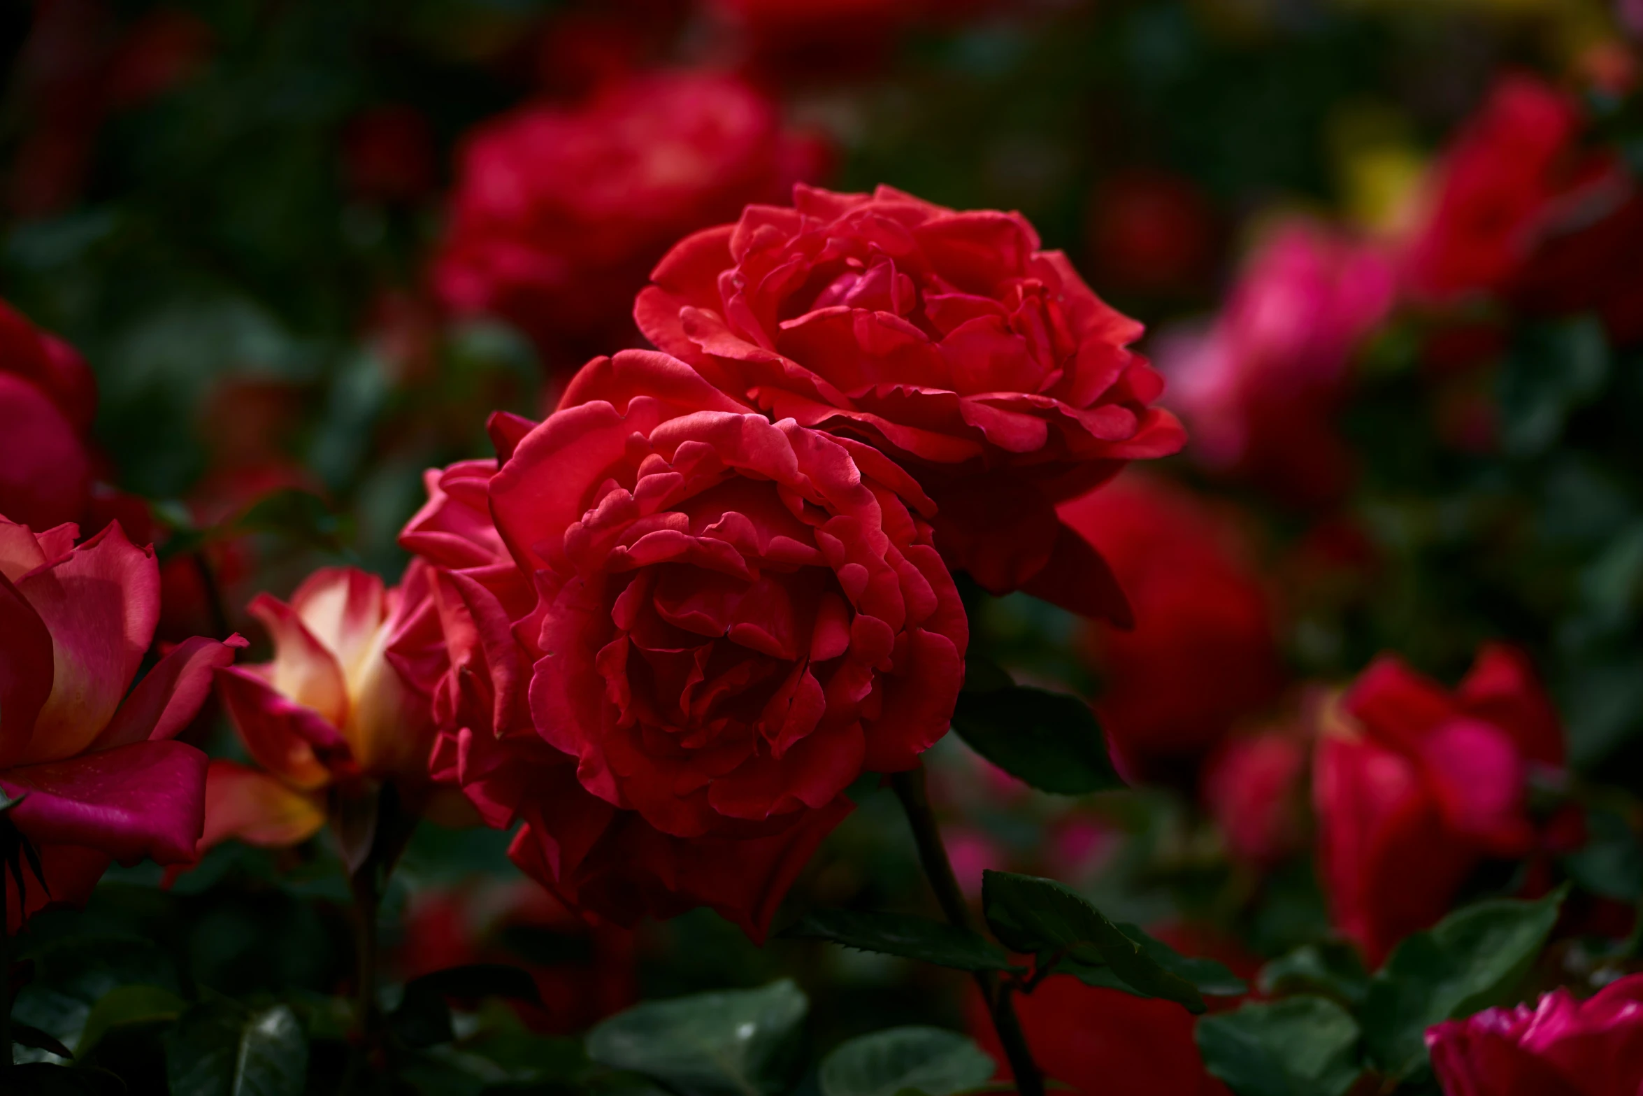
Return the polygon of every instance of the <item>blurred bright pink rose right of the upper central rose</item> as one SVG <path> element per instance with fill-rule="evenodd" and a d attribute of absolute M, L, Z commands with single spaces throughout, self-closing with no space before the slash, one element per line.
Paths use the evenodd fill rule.
<path fill-rule="evenodd" d="M 1380 245 L 1311 220 L 1272 230 L 1211 327 L 1158 347 L 1193 457 L 1303 506 L 1337 498 L 1352 468 L 1334 416 L 1395 289 Z"/>

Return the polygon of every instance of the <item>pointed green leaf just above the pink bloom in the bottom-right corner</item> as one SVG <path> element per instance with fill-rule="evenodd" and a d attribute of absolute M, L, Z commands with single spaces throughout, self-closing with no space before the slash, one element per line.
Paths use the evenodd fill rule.
<path fill-rule="evenodd" d="M 1369 1052 L 1390 1076 L 1426 1065 L 1426 1029 L 1502 1004 L 1558 922 L 1564 889 L 1538 902 L 1479 902 L 1418 932 L 1375 971 L 1360 1020 Z"/>

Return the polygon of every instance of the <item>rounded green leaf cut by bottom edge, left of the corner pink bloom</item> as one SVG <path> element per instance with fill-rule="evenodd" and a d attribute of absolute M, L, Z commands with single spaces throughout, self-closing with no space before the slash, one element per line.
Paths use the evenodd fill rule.
<path fill-rule="evenodd" d="M 1328 997 L 1245 1004 L 1198 1020 L 1204 1066 L 1239 1096 L 1344 1096 L 1357 1081 L 1359 1030 Z"/>

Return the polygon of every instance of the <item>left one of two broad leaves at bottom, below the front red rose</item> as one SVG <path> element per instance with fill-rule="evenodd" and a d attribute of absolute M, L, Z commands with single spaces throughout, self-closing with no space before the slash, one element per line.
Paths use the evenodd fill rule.
<path fill-rule="evenodd" d="M 785 1091 L 810 1002 L 790 979 L 761 989 L 649 1001 L 588 1032 L 588 1057 L 680 1096 Z"/>

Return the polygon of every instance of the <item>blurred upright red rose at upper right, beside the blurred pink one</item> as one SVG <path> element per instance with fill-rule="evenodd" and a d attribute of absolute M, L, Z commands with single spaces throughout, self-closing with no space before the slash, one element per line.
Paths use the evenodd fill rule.
<path fill-rule="evenodd" d="M 1418 297 L 1498 289 L 1520 269 L 1567 186 L 1577 127 L 1562 92 L 1531 76 L 1500 81 L 1428 184 L 1405 256 Z"/>

